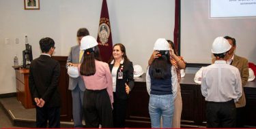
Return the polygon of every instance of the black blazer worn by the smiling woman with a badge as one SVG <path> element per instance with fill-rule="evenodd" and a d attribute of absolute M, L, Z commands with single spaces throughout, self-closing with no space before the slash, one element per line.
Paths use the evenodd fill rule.
<path fill-rule="evenodd" d="M 113 61 L 109 63 L 109 69 L 112 71 L 114 66 Z M 123 66 L 123 79 L 118 79 L 118 72 Z M 115 88 L 115 95 L 118 99 L 126 100 L 128 98 L 128 94 L 126 94 L 126 84 L 128 84 L 130 90 L 132 90 L 134 86 L 134 79 L 133 79 L 133 65 L 132 62 L 121 62 L 118 69 L 117 69 L 117 80 L 116 80 L 116 88 Z"/>

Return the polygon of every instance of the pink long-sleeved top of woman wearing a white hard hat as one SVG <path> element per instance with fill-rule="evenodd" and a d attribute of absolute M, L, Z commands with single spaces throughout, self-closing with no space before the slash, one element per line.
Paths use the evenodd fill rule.
<path fill-rule="evenodd" d="M 112 75 L 109 70 L 109 64 L 106 62 L 101 62 L 95 60 L 96 66 L 96 73 L 91 76 L 81 75 L 83 81 L 85 82 L 85 88 L 88 90 L 102 90 L 106 88 L 106 91 L 109 94 L 109 98 L 111 103 L 114 102 L 113 100 L 113 82 L 112 82 Z M 81 64 L 79 64 L 79 71 L 80 71 Z"/>

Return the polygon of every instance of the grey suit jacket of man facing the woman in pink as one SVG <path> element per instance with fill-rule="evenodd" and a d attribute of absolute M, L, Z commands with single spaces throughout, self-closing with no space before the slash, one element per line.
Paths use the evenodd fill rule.
<path fill-rule="evenodd" d="M 75 45 L 74 47 L 72 47 L 70 50 L 70 54 L 68 55 L 67 63 L 72 62 L 75 64 L 79 64 L 79 52 L 80 52 L 80 45 Z M 83 57 L 81 59 L 81 62 L 82 61 L 83 61 Z M 76 86 L 79 86 L 80 90 L 85 91 L 85 84 L 81 76 L 77 78 L 70 77 L 68 90 L 74 90 Z"/>

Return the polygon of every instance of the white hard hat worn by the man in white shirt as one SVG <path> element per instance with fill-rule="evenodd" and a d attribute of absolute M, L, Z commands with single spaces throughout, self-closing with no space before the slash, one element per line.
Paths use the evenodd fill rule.
<path fill-rule="evenodd" d="M 231 45 L 229 44 L 229 41 L 227 41 L 227 39 L 225 39 L 224 37 L 216 37 L 216 39 L 214 39 L 214 42 L 212 43 L 213 54 L 222 54 L 230 50 L 230 48 Z"/>

